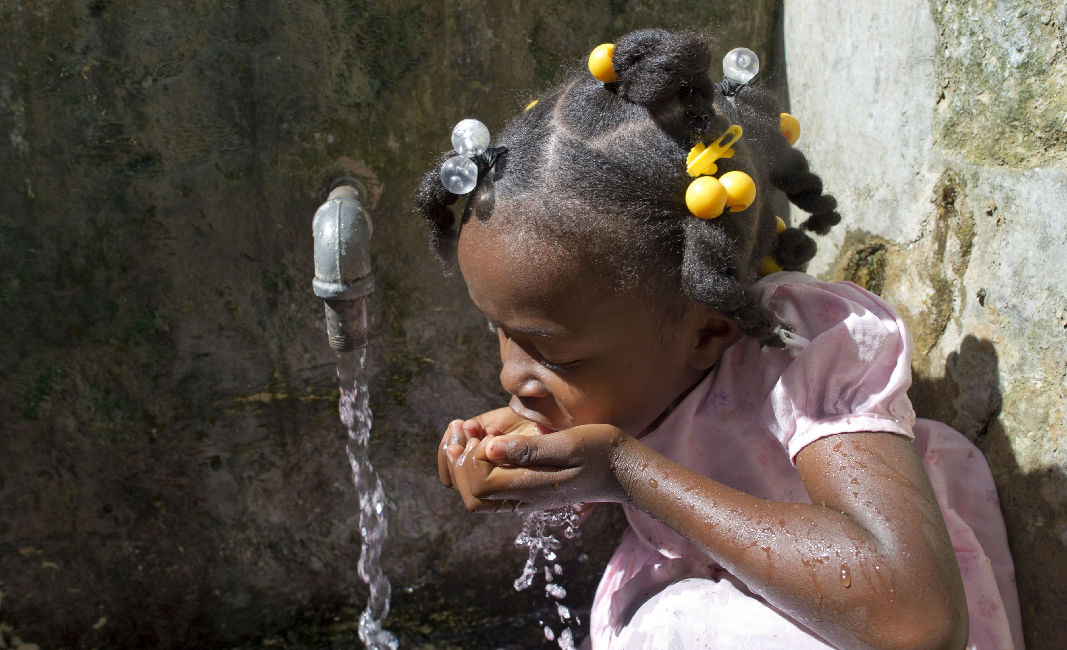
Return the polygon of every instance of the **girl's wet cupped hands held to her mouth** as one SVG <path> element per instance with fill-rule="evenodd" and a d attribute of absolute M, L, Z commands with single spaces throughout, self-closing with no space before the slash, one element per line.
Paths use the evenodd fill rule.
<path fill-rule="evenodd" d="M 505 435 L 487 427 L 468 438 L 447 470 L 468 510 L 540 510 L 589 502 L 628 501 L 615 473 L 621 446 L 633 439 L 606 424 L 542 436 Z M 449 446 L 449 455 L 455 448 Z"/>

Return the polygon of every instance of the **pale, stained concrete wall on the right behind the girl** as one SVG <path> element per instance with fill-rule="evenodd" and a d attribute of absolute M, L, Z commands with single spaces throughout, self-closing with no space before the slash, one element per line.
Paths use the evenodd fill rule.
<path fill-rule="evenodd" d="M 898 307 L 917 410 L 988 457 L 1032 649 L 1067 638 L 1065 29 L 1060 0 L 784 3 L 799 146 L 844 216 L 812 271 Z"/>

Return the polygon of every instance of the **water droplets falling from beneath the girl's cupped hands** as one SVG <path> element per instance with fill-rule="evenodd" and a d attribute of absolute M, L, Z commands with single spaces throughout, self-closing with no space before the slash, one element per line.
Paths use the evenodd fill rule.
<path fill-rule="evenodd" d="M 541 572 L 538 571 L 537 566 L 538 554 L 540 554 L 545 560 L 542 566 L 545 594 L 556 599 L 556 614 L 559 616 L 560 622 L 566 625 L 571 620 L 571 610 L 559 601 L 567 598 L 567 589 L 556 582 L 556 576 L 563 574 L 563 567 L 558 564 L 553 564 L 551 567 L 548 565 L 548 563 L 556 562 L 556 550 L 559 549 L 560 542 L 548 529 L 563 526 L 563 537 L 573 539 L 578 534 L 578 516 L 571 509 L 571 506 L 537 513 L 520 513 L 520 516 L 523 520 L 523 530 L 515 537 L 515 546 L 526 547 L 529 550 L 529 555 L 522 574 L 515 579 L 515 590 L 522 591 L 534 584 L 534 579 Z M 574 617 L 574 623 L 580 624 L 577 617 Z M 557 638 L 552 627 L 545 624 L 544 637 L 547 640 L 555 640 L 561 650 L 574 650 L 574 634 L 570 628 L 564 628 Z"/>

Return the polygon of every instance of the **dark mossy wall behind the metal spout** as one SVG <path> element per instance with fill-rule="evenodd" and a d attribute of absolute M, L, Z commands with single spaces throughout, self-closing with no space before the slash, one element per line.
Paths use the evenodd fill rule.
<path fill-rule="evenodd" d="M 540 647 L 546 601 L 510 587 L 516 518 L 467 515 L 435 477 L 445 423 L 504 395 L 411 192 L 458 119 L 495 129 L 637 27 L 710 29 L 715 60 L 745 45 L 773 72 L 777 12 L 0 3 L 0 645 L 351 647 L 356 504 L 310 291 L 310 218 L 348 174 L 372 190 L 388 625 L 405 647 Z M 572 602 L 588 606 L 620 532 L 605 508 L 569 547 Z"/>

